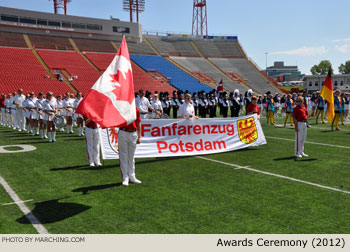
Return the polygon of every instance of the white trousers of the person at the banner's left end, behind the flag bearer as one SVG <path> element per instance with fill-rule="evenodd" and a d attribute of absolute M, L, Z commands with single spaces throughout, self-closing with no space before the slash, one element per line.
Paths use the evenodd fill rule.
<path fill-rule="evenodd" d="M 92 129 L 86 127 L 86 150 L 89 159 L 89 164 L 100 164 L 100 137 L 98 134 L 98 128 Z"/>

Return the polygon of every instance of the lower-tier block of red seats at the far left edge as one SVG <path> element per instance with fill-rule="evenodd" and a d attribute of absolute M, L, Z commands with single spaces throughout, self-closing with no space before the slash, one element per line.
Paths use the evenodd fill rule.
<path fill-rule="evenodd" d="M 52 91 L 54 94 L 70 92 L 69 87 L 48 73 L 30 49 L 0 47 L 0 93 L 12 93 L 22 88 L 25 93 Z"/>

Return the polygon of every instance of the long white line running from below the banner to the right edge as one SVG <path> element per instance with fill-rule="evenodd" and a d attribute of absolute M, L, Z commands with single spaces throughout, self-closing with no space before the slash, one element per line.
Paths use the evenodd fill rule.
<path fill-rule="evenodd" d="M 345 191 L 345 190 L 333 188 L 333 187 L 330 187 L 330 186 L 324 186 L 324 185 L 308 182 L 308 181 L 301 180 L 301 179 L 287 177 L 287 176 L 276 174 L 276 173 L 256 170 L 256 169 L 250 168 L 248 166 L 239 166 L 239 165 L 236 165 L 236 164 L 226 163 L 226 162 L 222 162 L 222 161 L 219 161 L 219 160 L 215 160 L 215 159 L 211 159 L 211 158 L 205 158 L 205 157 L 201 157 L 201 156 L 196 156 L 196 158 L 200 158 L 200 159 L 203 159 L 203 160 L 212 161 L 212 162 L 215 162 L 215 163 L 224 164 L 224 165 L 228 165 L 228 166 L 240 167 L 240 169 L 253 171 L 253 172 L 257 172 L 257 173 L 262 173 L 262 174 L 273 176 L 273 177 L 283 178 L 283 179 L 291 180 L 291 181 L 294 181 L 294 182 L 299 182 L 299 183 L 303 183 L 303 184 L 319 187 L 319 188 L 322 188 L 322 189 L 328 189 L 328 190 L 335 191 L 335 192 L 342 192 L 342 193 L 350 194 L 350 191 Z"/>

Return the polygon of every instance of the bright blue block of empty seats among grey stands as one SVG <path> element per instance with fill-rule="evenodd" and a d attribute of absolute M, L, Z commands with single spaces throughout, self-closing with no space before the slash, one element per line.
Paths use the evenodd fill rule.
<path fill-rule="evenodd" d="M 209 92 L 212 90 L 212 88 L 198 82 L 191 75 L 185 73 L 161 56 L 132 54 L 130 58 L 146 71 L 152 69 L 157 70 L 165 77 L 169 78 L 170 84 L 179 90 L 188 90 L 190 93 L 201 90 Z"/>

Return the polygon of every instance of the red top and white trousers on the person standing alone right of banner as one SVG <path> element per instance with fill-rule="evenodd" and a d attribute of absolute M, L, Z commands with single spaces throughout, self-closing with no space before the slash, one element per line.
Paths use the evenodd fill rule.
<path fill-rule="evenodd" d="M 293 118 L 296 119 L 298 130 L 295 131 L 295 155 L 300 156 L 304 154 L 304 143 L 307 135 L 306 109 L 304 106 L 296 106 L 293 109 Z"/>

